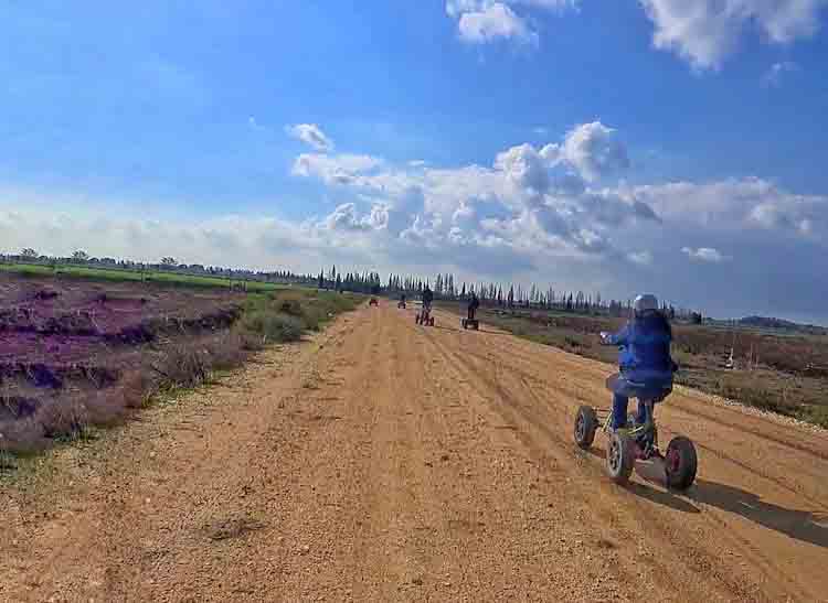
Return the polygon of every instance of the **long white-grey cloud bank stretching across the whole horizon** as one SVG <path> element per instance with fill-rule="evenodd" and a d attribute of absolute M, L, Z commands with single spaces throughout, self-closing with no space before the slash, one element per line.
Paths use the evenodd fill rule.
<path fill-rule="evenodd" d="M 322 198 L 337 200 L 300 219 L 116 216 L 102 207 L 118 200 L 0 189 L 0 250 L 86 249 L 153 261 L 170 255 L 190 263 L 314 273 L 331 263 L 424 276 L 439 270 L 553 282 L 559 291 L 601 290 L 616 299 L 657 286 L 661 297 L 709 312 L 828 321 L 820 263 L 828 254 L 828 195 L 797 194 L 761 177 L 613 181 L 628 163 L 626 151 L 612 149 L 616 142 L 607 151 L 606 138 L 615 132 L 595 123 L 545 147 L 505 149 L 489 166 L 300 154 L 296 177 L 317 182 Z M 711 269 L 715 265 L 728 270 Z M 796 294 L 768 293 L 781 290 Z"/>

